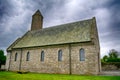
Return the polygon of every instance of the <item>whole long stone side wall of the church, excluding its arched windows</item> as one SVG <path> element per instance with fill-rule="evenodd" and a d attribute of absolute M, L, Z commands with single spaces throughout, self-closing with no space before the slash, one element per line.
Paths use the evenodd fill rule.
<path fill-rule="evenodd" d="M 85 61 L 79 60 L 79 50 L 81 48 L 85 50 Z M 60 49 L 63 51 L 62 61 L 58 61 L 58 51 Z M 70 74 L 71 70 L 72 74 L 98 74 L 98 54 L 95 49 L 92 43 L 80 43 L 71 46 L 66 44 L 13 50 L 9 70 L 59 74 Z M 28 51 L 30 52 L 30 60 L 26 61 Z M 41 51 L 45 52 L 43 62 L 40 61 Z M 18 53 L 17 61 L 15 61 L 15 53 Z"/>

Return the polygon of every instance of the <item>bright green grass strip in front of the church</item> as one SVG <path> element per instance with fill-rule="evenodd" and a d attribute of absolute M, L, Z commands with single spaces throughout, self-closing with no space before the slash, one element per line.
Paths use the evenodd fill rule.
<path fill-rule="evenodd" d="M 62 74 L 18 74 L 15 72 L 0 72 L 0 80 L 120 80 L 120 76 L 80 76 Z"/>

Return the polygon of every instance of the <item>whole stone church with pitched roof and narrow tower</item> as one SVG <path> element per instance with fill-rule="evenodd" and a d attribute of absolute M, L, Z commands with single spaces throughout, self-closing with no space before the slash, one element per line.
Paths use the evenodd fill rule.
<path fill-rule="evenodd" d="M 55 74 L 99 74 L 100 46 L 95 17 L 43 28 L 38 10 L 31 30 L 7 48 L 6 70 Z"/>

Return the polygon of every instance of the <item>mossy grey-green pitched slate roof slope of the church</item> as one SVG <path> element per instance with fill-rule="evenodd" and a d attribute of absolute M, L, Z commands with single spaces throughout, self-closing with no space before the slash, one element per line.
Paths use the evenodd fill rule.
<path fill-rule="evenodd" d="M 93 19 L 28 31 L 12 48 L 91 41 Z M 11 47 L 10 47 L 11 48 Z"/>

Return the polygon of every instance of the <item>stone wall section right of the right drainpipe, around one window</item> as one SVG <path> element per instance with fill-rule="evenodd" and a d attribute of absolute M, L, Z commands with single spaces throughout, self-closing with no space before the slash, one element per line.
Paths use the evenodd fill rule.
<path fill-rule="evenodd" d="M 79 60 L 79 50 L 85 49 L 85 61 Z M 72 74 L 98 74 L 98 55 L 94 45 L 72 45 Z"/>

